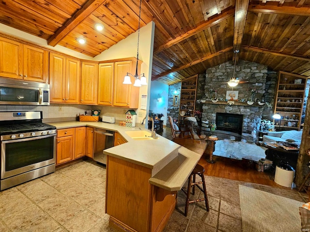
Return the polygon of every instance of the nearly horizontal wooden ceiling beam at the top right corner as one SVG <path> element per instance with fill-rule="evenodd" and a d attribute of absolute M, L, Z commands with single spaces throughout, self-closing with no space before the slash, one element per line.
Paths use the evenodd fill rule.
<path fill-rule="evenodd" d="M 258 5 L 250 4 L 248 6 L 248 12 L 257 12 L 265 14 L 294 14 L 310 16 L 309 7 L 295 7 L 295 6 L 275 6 L 275 5 Z"/>

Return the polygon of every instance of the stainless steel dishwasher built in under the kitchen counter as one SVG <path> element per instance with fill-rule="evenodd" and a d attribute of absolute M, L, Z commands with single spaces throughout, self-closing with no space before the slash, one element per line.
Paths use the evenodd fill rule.
<path fill-rule="evenodd" d="M 93 138 L 93 160 L 101 164 L 107 164 L 107 155 L 103 154 L 103 150 L 112 146 L 114 146 L 114 132 L 95 128 Z"/>

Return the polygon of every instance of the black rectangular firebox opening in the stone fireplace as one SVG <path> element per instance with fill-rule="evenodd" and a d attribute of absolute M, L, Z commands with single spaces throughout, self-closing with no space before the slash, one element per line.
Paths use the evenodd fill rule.
<path fill-rule="evenodd" d="M 242 134 L 243 115 L 217 113 L 216 125 L 217 130 L 231 131 Z"/>

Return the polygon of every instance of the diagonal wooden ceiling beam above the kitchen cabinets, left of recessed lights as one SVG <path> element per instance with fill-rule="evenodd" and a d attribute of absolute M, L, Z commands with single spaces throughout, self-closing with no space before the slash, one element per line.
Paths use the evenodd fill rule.
<path fill-rule="evenodd" d="M 88 0 L 83 7 L 63 24 L 48 40 L 47 44 L 56 46 L 67 34 L 75 29 L 83 20 L 92 14 L 105 0 Z"/>

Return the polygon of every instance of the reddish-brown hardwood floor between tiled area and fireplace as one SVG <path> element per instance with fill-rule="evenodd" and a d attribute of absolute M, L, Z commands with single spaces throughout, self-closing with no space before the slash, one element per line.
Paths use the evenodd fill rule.
<path fill-rule="evenodd" d="M 169 127 L 164 127 L 162 136 L 172 140 L 171 129 Z M 253 162 L 213 156 L 213 160 L 216 162 L 208 163 L 206 158 L 209 157 L 202 156 L 198 162 L 205 168 L 206 175 L 285 188 L 274 182 L 274 172 L 272 170 L 258 172 Z"/>

